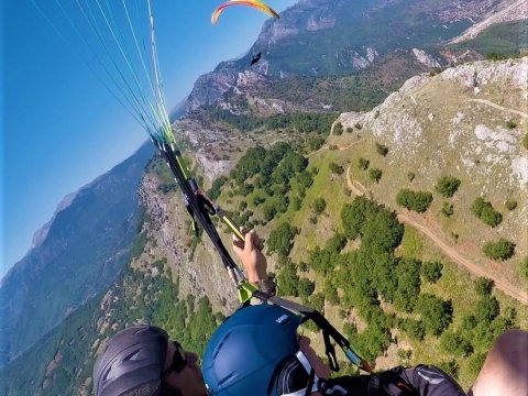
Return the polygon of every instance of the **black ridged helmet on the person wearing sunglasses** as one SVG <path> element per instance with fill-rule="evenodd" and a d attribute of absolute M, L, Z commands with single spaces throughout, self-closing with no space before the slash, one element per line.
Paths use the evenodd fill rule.
<path fill-rule="evenodd" d="M 167 333 L 155 326 L 133 326 L 117 333 L 94 365 L 96 395 L 156 395 L 167 342 Z"/>

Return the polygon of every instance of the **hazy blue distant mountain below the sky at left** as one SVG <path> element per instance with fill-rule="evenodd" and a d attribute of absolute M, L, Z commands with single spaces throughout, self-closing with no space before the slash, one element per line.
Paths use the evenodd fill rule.
<path fill-rule="evenodd" d="M 2 279 L 2 365 L 114 280 L 135 237 L 136 190 L 152 155 L 148 142 L 76 193 Z"/>

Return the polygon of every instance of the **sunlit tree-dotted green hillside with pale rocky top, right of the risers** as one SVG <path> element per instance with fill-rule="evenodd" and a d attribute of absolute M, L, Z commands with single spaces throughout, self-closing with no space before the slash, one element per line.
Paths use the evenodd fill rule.
<path fill-rule="evenodd" d="M 317 152 L 290 147 L 308 160 L 298 174 L 280 179 L 290 168 L 283 156 L 265 176 L 263 158 L 276 147 L 255 148 L 222 188 L 220 201 L 268 235 L 280 293 L 323 309 L 377 369 L 433 363 L 469 386 L 498 333 L 528 328 L 525 62 L 416 77 L 372 111 L 341 114 Z M 475 200 L 490 202 L 479 216 Z M 403 227 L 395 211 L 487 278 Z"/>

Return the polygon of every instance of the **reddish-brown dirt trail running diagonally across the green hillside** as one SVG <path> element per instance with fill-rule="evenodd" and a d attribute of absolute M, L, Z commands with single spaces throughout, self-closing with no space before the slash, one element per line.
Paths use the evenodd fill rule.
<path fill-rule="evenodd" d="M 349 189 L 354 194 L 354 195 L 365 195 L 366 189 L 359 183 L 353 183 L 352 179 L 350 178 L 350 166 L 346 168 L 346 185 Z M 419 230 L 421 233 L 424 233 L 427 238 L 429 238 L 446 255 L 448 255 L 452 261 L 454 261 L 457 264 L 462 265 L 465 267 L 468 271 L 470 271 L 472 274 L 475 274 L 477 276 L 483 276 L 490 279 L 493 279 L 495 283 L 495 287 L 508 296 L 515 298 L 516 300 L 528 305 L 528 293 L 524 290 L 519 290 L 515 286 L 510 285 L 507 282 L 497 279 L 493 275 L 491 275 L 485 268 L 482 266 L 471 262 L 468 258 L 464 258 L 457 250 L 454 250 L 452 246 L 450 246 L 446 241 L 443 241 L 440 237 L 438 237 L 435 232 L 431 231 L 431 229 L 425 227 L 424 224 L 410 219 L 408 216 L 404 213 L 398 213 L 398 220 L 403 223 L 409 224 L 417 230 Z"/>

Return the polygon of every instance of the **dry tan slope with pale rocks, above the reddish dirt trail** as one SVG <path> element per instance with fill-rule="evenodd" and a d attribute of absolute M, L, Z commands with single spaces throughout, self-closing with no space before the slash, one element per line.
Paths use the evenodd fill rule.
<path fill-rule="evenodd" d="M 367 186 L 376 199 L 396 208 L 396 193 L 404 187 L 435 191 L 441 176 L 461 180 L 452 198 L 435 195 L 430 215 L 421 222 L 436 228 L 446 240 L 454 240 L 460 253 L 491 276 L 520 289 L 517 261 L 528 254 L 528 162 L 521 144 L 528 122 L 527 64 L 526 57 L 480 62 L 447 69 L 436 77 L 415 77 L 371 112 L 339 118 L 343 128 L 370 136 L 370 144 L 375 141 L 388 147 L 383 158 L 367 148 L 367 143 L 350 150 L 352 156 L 362 152 L 370 166 L 383 170 L 376 184 L 351 166 L 352 177 Z M 346 145 L 351 138 L 336 138 L 334 144 Z M 471 207 L 479 197 L 502 213 L 497 227 L 486 226 L 472 215 Z M 517 207 L 506 208 L 508 200 L 515 200 Z M 454 213 L 442 216 L 444 205 L 452 206 Z M 501 265 L 481 252 L 484 242 L 499 238 L 516 245 L 516 258 Z"/>

